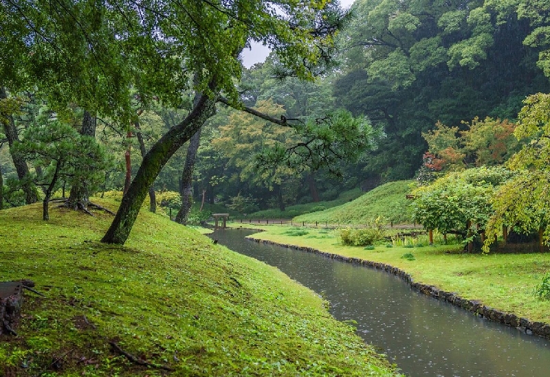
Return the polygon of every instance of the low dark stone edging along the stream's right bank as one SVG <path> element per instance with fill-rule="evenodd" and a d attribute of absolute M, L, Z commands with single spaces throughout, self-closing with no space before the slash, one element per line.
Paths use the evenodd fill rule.
<path fill-rule="evenodd" d="M 255 229 L 255 230 L 258 230 L 258 229 Z M 526 332 L 527 334 L 530 334 L 530 335 L 534 334 L 534 335 L 542 336 L 546 339 L 550 339 L 550 325 L 548 323 L 531 322 L 529 321 L 529 319 L 520 318 L 514 313 L 501 312 L 500 310 L 496 310 L 494 308 L 490 308 L 489 306 L 485 306 L 479 300 L 463 299 L 462 297 L 460 297 L 454 292 L 445 292 L 444 290 L 440 290 L 436 286 L 430 286 L 428 284 L 421 284 L 421 283 L 414 282 L 412 280 L 412 277 L 410 277 L 408 273 L 406 273 L 401 269 L 398 269 L 397 267 L 391 266 L 390 264 L 386 264 L 382 262 L 373 262 L 371 260 L 362 260 L 360 258 L 345 257 L 344 255 L 340 255 L 340 254 L 333 254 L 333 253 L 327 253 L 325 251 L 320 251 L 318 249 L 314 249 L 313 247 L 296 246 L 293 244 L 282 244 L 282 243 L 274 242 L 270 240 L 260 240 L 258 238 L 250 238 L 250 237 L 245 237 L 245 238 L 247 240 L 251 240 L 254 242 L 272 244 L 275 246 L 286 247 L 286 248 L 294 249 L 298 251 L 306 251 L 307 253 L 315 253 L 318 255 L 322 255 L 325 258 L 341 260 L 344 262 L 349 262 L 354 264 L 360 264 L 362 266 L 371 267 L 377 270 L 384 270 L 384 271 L 387 271 L 388 273 L 401 277 L 401 279 L 404 279 L 406 282 L 408 282 L 408 284 L 412 287 L 412 289 L 417 290 L 420 293 L 423 293 L 424 295 L 434 297 L 435 299 L 448 301 L 455 306 L 459 306 L 460 308 L 473 312 L 475 315 L 478 315 L 479 317 L 490 319 L 491 321 L 503 323 L 505 325 L 513 326 L 514 328 L 517 328 L 518 330 Z"/>

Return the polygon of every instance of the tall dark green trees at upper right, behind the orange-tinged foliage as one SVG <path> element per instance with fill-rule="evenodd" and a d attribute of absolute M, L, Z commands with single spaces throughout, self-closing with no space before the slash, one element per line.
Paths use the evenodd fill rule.
<path fill-rule="evenodd" d="M 384 126 L 387 141 L 369 172 L 408 179 L 426 151 L 417 135 L 436 122 L 460 131 L 463 119 L 511 119 L 527 95 L 550 90 L 544 1 L 358 0 L 353 10 L 339 35 L 344 67 L 334 97 L 337 106 Z M 506 158 L 506 148 L 494 156 L 490 148 L 464 163 Z"/>

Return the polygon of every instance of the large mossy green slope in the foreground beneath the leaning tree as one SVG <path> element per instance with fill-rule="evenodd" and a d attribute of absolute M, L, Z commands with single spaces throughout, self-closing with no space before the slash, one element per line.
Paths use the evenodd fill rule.
<path fill-rule="evenodd" d="M 142 211 L 120 247 L 98 242 L 111 215 L 50 212 L 0 211 L 0 281 L 45 294 L 25 291 L 0 375 L 392 375 L 311 290 L 193 229 Z"/>

